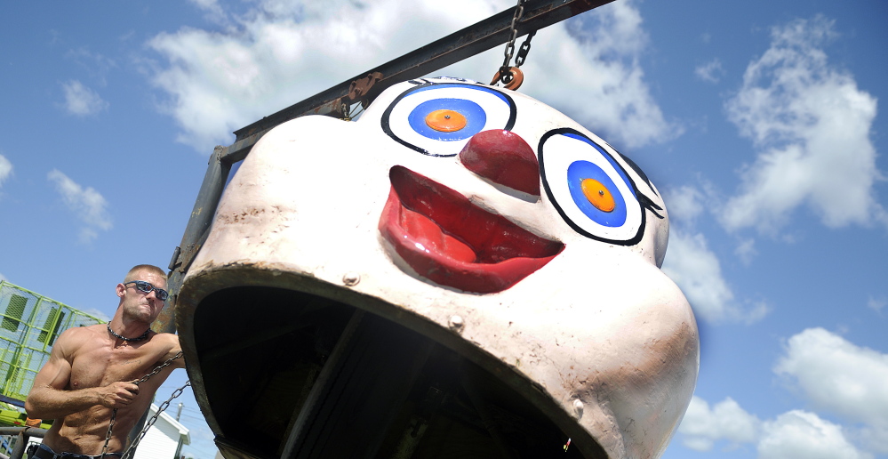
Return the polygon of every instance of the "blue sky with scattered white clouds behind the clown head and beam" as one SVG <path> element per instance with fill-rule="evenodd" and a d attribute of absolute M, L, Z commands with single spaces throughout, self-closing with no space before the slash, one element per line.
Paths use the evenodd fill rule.
<path fill-rule="evenodd" d="M 509 6 L 4 5 L 0 276 L 110 316 L 129 267 L 169 263 L 231 131 Z M 533 38 L 521 91 L 667 198 L 664 270 L 702 351 L 664 457 L 888 457 L 885 17 L 881 1 L 617 0 Z M 501 56 L 436 75 L 489 80 Z M 185 452 L 210 458 L 184 403 Z"/>

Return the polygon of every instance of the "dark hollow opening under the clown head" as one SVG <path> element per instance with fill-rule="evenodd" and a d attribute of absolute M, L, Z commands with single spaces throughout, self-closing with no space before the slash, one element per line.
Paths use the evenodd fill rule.
<path fill-rule="evenodd" d="M 501 377 L 341 302 L 227 288 L 196 308 L 193 332 L 228 457 L 584 457 Z"/>

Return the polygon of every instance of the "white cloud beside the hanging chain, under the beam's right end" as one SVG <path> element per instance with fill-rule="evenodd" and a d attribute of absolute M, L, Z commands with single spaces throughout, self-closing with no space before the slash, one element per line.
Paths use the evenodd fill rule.
<path fill-rule="evenodd" d="M 521 91 L 627 149 L 677 137 L 682 127 L 665 120 L 638 62 L 648 44 L 642 26 L 633 2 L 614 2 L 541 30 Z"/>

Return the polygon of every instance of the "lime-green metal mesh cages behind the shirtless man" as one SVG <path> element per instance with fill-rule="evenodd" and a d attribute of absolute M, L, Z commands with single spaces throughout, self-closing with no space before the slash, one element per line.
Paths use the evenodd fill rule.
<path fill-rule="evenodd" d="M 0 281 L 0 399 L 22 406 L 59 334 L 101 323 L 100 318 Z"/>

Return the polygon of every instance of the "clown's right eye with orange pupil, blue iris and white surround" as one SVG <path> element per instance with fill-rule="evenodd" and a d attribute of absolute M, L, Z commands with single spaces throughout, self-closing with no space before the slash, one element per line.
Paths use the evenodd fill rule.
<path fill-rule="evenodd" d="M 582 133 L 557 129 L 540 140 L 540 173 L 549 200 L 573 229 L 632 245 L 644 231 L 644 208 L 615 156 Z"/>

